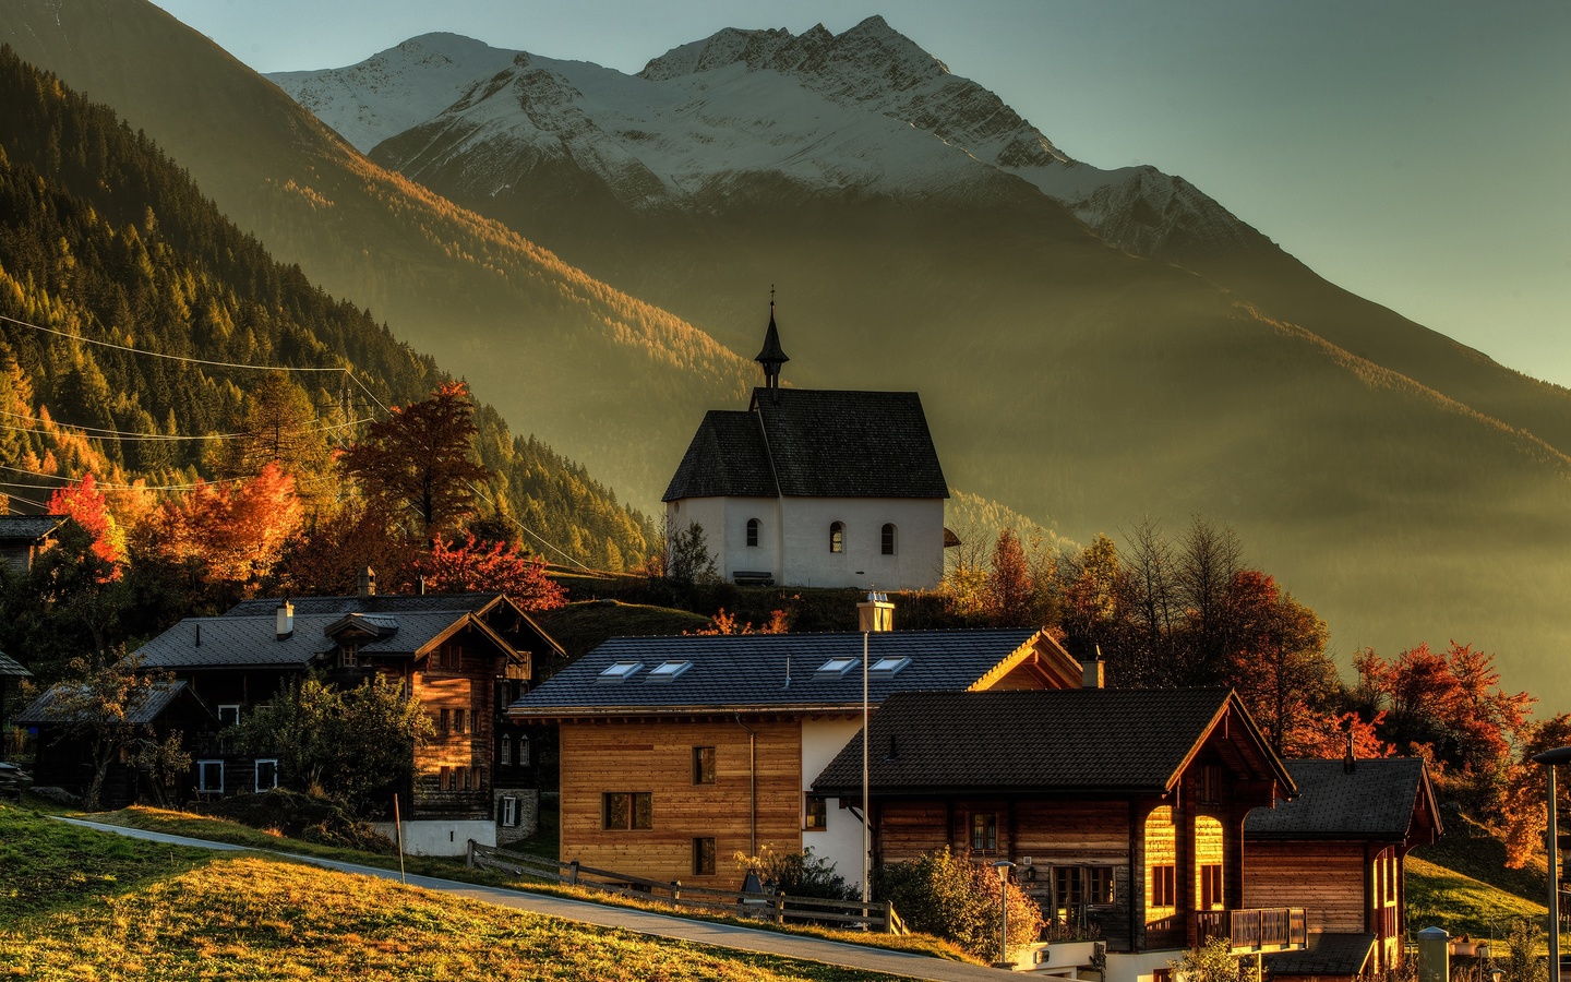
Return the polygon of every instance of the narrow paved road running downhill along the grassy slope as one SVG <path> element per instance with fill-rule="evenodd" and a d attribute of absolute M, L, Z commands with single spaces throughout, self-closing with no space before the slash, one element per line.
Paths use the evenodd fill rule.
<path fill-rule="evenodd" d="M 134 839 L 151 839 L 152 842 L 168 842 L 173 845 L 195 845 L 198 848 L 218 848 L 218 850 L 245 848 L 240 845 L 229 845 L 226 842 L 187 839 L 185 836 L 170 836 L 165 833 L 154 833 L 141 828 L 124 828 L 121 825 L 102 825 L 99 822 L 83 822 L 80 819 L 60 819 L 60 820 L 71 822 L 72 825 L 83 825 L 86 828 L 94 828 L 97 831 L 115 833 L 119 836 L 130 836 Z M 267 852 L 267 850 L 251 850 L 251 852 Z M 272 853 L 272 855 L 286 859 L 294 859 L 298 863 L 309 863 L 313 866 L 324 866 L 327 869 L 336 869 L 346 874 L 360 874 L 364 877 L 379 877 L 383 880 L 397 878 L 397 870 L 380 869 L 375 866 L 339 863 L 336 859 L 320 859 L 317 856 L 300 856 L 295 853 Z M 564 918 L 567 921 L 581 921 L 584 924 L 597 924 L 600 927 L 621 927 L 624 930 L 636 932 L 641 935 L 677 938 L 680 941 L 694 941 L 698 944 L 715 944 L 718 947 L 734 947 L 737 951 L 760 952 L 767 955 L 784 955 L 787 958 L 801 958 L 804 962 L 823 962 L 826 965 L 839 965 L 844 968 L 856 968 L 862 971 L 888 973 L 891 976 L 902 976 L 908 979 L 932 979 L 933 982 L 1001 982 L 1001 979 L 1012 977 L 1012 973 L 994 968 L 982 968 L 980 965 L 944 962 L 943 958 L 930 958 L 927 955 L 911 955 L 905 952 L 884 951 L 878 947 L 864 947 L 861 944 L 842 944 L 839 941 L 828 941 L 809 935 L 786 935 L 771 930 L 735 927 L 732 924 L 690 921 L 687 918 L 654 914 L 649 911 L 633 910 L 627 907 L 610 907 L 602 903 L 588 903 L 584 900 L 569 900 L 566 897 L 553 897 L 550 894 L 531 894 L 517 889 L 501 889 L 496 886 L 479 886 L 476 883 L 460 883 L 457 880 L 438 880 L 435 877 L 416 877 L 416 875 L 410 875 L 408 883 L 410 886 L 437 889 L 441 892 L 456 894 L 459 897 L 470 897 L 471 900 L 481 900 L 484 903 L 496 903 L 500 907 L 528 910 L 551 918 Z"/>

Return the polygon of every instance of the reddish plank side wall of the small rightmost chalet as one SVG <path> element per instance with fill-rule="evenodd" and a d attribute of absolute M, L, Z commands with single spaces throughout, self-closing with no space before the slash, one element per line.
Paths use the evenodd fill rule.
<path fill-rule="evenodd" d="M 1246 907 L 1302 907 L 1309 930 L 1364 933 L 1362 842 L 1251 842 Z"/>

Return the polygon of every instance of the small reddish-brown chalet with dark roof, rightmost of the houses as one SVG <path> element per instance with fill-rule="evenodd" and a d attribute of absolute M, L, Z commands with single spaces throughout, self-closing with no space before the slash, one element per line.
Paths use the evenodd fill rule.
<path fill-rule="evenodd" d="M 1419 757 L 1291 759 L 1299 795 L 1244 823 L 1244 899 L 1309 910 L 1307 951 L 1274 955 L 1273 976 L 1356 979 L 1403 954 L 1403 864 L 1434 842 L 1441 817 Z"/>

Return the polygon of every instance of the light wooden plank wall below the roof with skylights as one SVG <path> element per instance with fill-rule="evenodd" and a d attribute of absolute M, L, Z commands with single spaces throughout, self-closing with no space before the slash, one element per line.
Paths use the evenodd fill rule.
<path fill-rule="evenodd" d="M 801 724 L 743 720 L 757 734 L 757 847 L 801 848 Z M 694 784 L 693 748 L 715 748 L 715 782 Z M 683 883 L 734 886 L 734 853 L 754 848 L 748 731 L 735 720 L 564 721 L 561 856 Z M 649 792 L 652 828 L 602 828 L 602 795 Z M 715 839 L 715 874 L 693 870 L 693 841 Z"/>

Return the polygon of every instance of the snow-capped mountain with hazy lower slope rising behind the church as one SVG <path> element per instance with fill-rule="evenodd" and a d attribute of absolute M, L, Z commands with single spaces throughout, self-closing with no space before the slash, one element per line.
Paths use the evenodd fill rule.
<path fill-rule="evenodd" d="M 779 283 L 787 379 L 919 388 L 957 484 L 1078 539 L 1232 522 L 1343 650 L 1469 638 L 1566 699 L 1544 652 L 1571 639 L 1547 588 L 1571 394 L 1338 291 L 1186 181 L 1075 162 L 878 19 L 726 30 L 636 77 L 498 69 L 451 36 L 366 64 L 283 82 L 346 130 L 440 93 L 357 138 L 734 350 Z"/>

